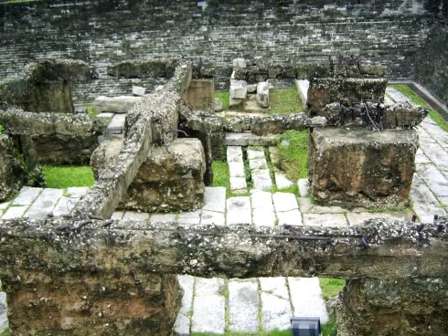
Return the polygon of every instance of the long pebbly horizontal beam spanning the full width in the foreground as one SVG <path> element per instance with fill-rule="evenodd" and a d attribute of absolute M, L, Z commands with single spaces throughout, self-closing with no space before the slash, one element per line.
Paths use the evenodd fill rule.
<path fill-rule="evenodd" d="M 372 219 L 350 227 L 253 227 L 48 222 L 0 221 L 0 276 L 25 268 L 206 278 L 448 277 L 446 223 Z"/>

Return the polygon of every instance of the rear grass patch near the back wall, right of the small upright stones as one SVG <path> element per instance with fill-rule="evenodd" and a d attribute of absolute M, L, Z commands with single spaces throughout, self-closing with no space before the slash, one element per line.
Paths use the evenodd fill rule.
<path fill-rule="evenodd" d="M 270 89 L 269 90 L 270 114 L 288 115 L 304 110 L 302 101 L 295 87 L 292 89 Z"/>

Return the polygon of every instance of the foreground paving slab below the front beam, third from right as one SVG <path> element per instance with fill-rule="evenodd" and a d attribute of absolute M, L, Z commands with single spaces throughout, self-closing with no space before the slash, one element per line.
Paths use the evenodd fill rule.
<path fill-rule="evenodd" d="M 229 280 L 229 331 L 256 332 L 259 328 L 258 283 L 255 278 Z"/>

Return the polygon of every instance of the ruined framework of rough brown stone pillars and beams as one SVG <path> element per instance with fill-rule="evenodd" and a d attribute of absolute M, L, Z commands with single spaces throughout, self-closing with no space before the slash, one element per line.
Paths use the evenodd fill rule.
<path fill-rule="evenodd" d="M 51 64 L 49 74 L 59 69 L 58 61 Z M 9 168 L 0 174 L 0 186 L 29 184 L 30 167 L 38 171 L 38 163 L 60 164 L 62 157 L 80 163 L 92 154 L 96 175 L 96 184 L 69 215 L 0 220 L 0 278 L 13 334 L 170 335 L 182 297 L 176 274 L 349 278 L 337 310 L 339 334 L 448 331 L 441 318 L 448 302 L 446 217 L 429 224 L 368 220 L 350 227 L 108 219 L 119 206 L 196 209 L 228 131 L 311 128 L 309 176 L 316 201 L 406 204 L 418 147 L 412 127 L 426 112 L 410 103 L 385 104 L 386 79 L 378 68 L 335 66 L 333 72 L 315 73 L 306 113 L 229 118 L 213 112 L 210 80 L 193 79 L 188 60 L 128 61 L 108 73 L 167 81 L 123 108 L 128 110 L 123 134 L 105 138 L 104 125 L 89 116 L 32 110 L 2 96 L 6 135 L 0 150 Z M 48 75 L 55 78 L 62 77 Z M 42 83 L 46 88 L 44 79 L 32 85 Z M 58 143 L 59 152 L 46 154 L 50 142 Z M 27 176 L 15 182 L 12 172 Z"/>

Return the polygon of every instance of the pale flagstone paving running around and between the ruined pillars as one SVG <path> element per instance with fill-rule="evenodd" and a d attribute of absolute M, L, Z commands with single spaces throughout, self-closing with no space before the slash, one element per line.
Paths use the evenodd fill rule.
<path fill-rule="evenodd" d="M 270 170 L 270 160 L 272 163 L 277 160 L 275 149 L 264 151 L 256 143 L 247 149 L 246 160 L 254 187 L 248 191 L 243 151 L 236 145 L 238 142 L 232 142 L 234 145 L 228 147 L 230 176 L 244 179 L 244 184 L 242 180 L 234 181 L 231 189 L 244 191 L 244 195 L 227 198 L 224 187 L 207 187 L 204 206 L 195 212 L 145 214 L 116 211 L 112 218 L 154 222 L 176 220 L 192 226 L 353 226 L 371 217 L 411 219 L 415 213 L 419 221 L 432 222 L 434 215 L 446 214 L 448 205 L 448 132 L 429 118 L 417 127 L 417 131 L 421 148 L 416 154 L 411 209 L 408 210 L 374 213 L 364 208 L 348 210 L 340 206 L 315 205 L 308 197 L 305 179 L 297 183 L 299 197 L 282 191 L 272 194 L 272 186 L 282 189 L 292 182 L 278 169 Z M 269 157 L 266 152 L 270 153 Z M 87 190 L 24 187 L 14 200 L 0 204 L 0 216 L 1 219 L 22 216 L 39 219 L 51 213 L 62 215 Z M 284 330 L 289 328 L 289 318 L 293 315 L 319 316 L 323 322 L 328 318 L 317 278 L 178 278 L 186 293 L 176 320 L 175 330 L 179 335 Z M 0 331 L 6 320 L 4 307 L 5 294 L 0 293 Z"/>

